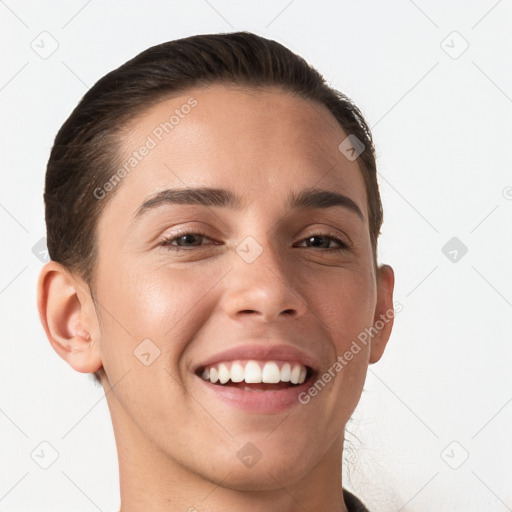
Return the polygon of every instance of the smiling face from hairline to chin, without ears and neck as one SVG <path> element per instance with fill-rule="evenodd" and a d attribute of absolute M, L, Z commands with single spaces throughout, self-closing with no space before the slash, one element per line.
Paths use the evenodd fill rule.
<path fill-rule="evenodd" d="M 343 354 L 379 310 L 347 135 L 321 105 L 221 85 L 124 132 L 132 167 L 106 192 L 95 267 L 116 437 L 238 489 L 339 458 L 373 357 L 370 343 Z"/>

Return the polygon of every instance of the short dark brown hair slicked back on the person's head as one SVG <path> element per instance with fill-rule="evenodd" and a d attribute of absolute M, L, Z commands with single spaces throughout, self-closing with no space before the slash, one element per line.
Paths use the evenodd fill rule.
<path fill-rule="evenodd" d="M 383 214 L 373 140 L 363 115 L 303 58 L 250 32 L 196 35 L 153 46 L 89 89 L 59 130 L 48 160 L 44 201 L 52 260 L 76 272 L 92 289 L 95 229 L 102 209 L 114 195 L 98 200 L 94 191 L 120 165 L 122 128 L 167 97 L 218 83 L 279 87 L 318 102 L 347 134 L 364 144 L 358 162 L 368 197 L 376 265 Z M 94 373 L 97 382 L 103 372 L 101 368 Z"/>

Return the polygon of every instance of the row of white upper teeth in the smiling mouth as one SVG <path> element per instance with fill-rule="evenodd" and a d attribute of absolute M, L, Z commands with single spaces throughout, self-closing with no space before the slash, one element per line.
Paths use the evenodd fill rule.
<path fill-rule="evenodd" d="M 281 365 L 281 367 L 280 367 Z M 225 384 L 231 382 L 246 382 L 247 384 L 277 384 L 291 382 L 302 384 L 306 380 L 307 369 L 296 363 L 277 363 L 275 361 L 233 361 L 219 363 L 204 369 L 201 375 L 204 380 L 212 383 Z"/>

